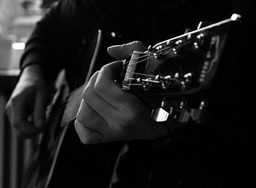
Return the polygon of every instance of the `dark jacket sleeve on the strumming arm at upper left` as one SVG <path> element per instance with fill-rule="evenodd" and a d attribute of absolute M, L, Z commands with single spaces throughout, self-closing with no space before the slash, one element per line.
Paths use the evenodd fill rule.
<path fill-rule="evenodd" d="M 62 68 L 71 67 L 84 36 L 97 23 L 99 15 L 94 9 L 90 1 L 62 0 L 54 3 L 26 42 L 20 58 L 21 70 L 31 63 L 38 63 L 50 81 Z"/>

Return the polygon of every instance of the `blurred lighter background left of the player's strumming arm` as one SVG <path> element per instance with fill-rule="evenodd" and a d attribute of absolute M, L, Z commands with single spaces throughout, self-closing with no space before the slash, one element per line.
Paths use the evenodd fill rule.
<path fill-rule="evenodd" d="M 37 20 L 57 0 L 0 0 L 0 188 L 20 187 L 31 141 L 12 133 L 4 111 L 19 74 L 19 59 Z M 247 0 L 230 0 L 233 12 L 244 12 Z M 241 6 L 241 1 L 243 5 Z"/>

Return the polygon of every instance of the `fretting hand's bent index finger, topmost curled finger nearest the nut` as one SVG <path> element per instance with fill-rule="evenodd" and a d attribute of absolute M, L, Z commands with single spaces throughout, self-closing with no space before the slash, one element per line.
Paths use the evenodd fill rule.
<path fill-rule="evenodd" d="M 103 66 L 95 81 L 94 92 L 114 108 L 120 110 L 124 109 L 127 103 L 132 103 L 138 98 L 133 93 L 121 90 L 121 85 L 118 82 L 113 82 L 116 79 L 118 69 L 121 69 L 121 62 L 113 62 Z"/>

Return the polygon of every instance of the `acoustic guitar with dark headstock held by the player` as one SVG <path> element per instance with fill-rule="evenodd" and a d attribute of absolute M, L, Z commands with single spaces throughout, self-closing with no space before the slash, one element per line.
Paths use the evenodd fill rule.
<path fill-rule="evenodd" d="M 208 97 L 223 63 L 222 52 L 230 30 L 240 22 L 240 16 L 236 14 L 218 23 L 201 22 L 194 31 L 187 30 L 185 34 L 149 46 L 146 52 L 133 52 L 123 60 L 120 87 L 141 98 L 158 98 L 158 102 L 151 105 L 152 118 L 157 122 L 169 118 L 177 122 L 206 121 Z M 102 32 L 98 31 L 85 82 L 93 73 L 101 42 Z M 69 93 L 61 85 L 48 106 L 47 129 L 37 140 L 23 188 L 48 187 L 62 141 L 69 123 L 75 120 L 85 86 Z"/>

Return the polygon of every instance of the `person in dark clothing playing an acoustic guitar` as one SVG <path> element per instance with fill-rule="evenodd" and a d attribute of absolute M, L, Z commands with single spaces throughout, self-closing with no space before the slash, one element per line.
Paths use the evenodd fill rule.
<path fill-rule="evenodd" d="M 243 136 L 229 121 L 237 112 L 226 109 L 232 109 L 232 100 L 221 90 L 230 79 L 215 66 L 219 53 L 225 52 L 225 32 L 218 33 L 208 22 L 194 25 L 207 20 L 222 26 L 230 15 L 228 1 L 53 4 L 26 43 L 18 84 L 7 103 L 20 138 L 43 136 L 23 187 L 242 186 L 247 173 L 236 169 L 244 170 L 236 163 L 244 158 L 233 141 Z M 205 26 L 214 26 L 217 36 L 211 28 L 200 30 Z M 159 66 L 151 67 L 151 57 Z M 201 63 L 199 73 L 194 58 Z M 165 63 L 170 59 L 171 68 Z M 131 71 L 134 67 L 140 71 Z M 65 107 L 55 105 L 47 114 L 49 86 L 63 69 L 69 98 L 64 97 Z M 215 74 L 219 79 L 210 87 L 208 79 Z M 208 101 L 210 118 L 201 118 Z M 67 119 L 73 121 L 62 123 Z"/>

